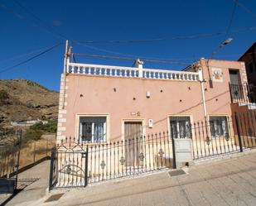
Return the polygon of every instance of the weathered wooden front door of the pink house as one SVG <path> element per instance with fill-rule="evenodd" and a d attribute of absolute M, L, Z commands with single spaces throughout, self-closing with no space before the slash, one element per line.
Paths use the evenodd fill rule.
<path fill-rule="evenodd" d="M 126 142 L 126 165 L 141 165 L 143 155 L 142 122 L 124 122 L 124 141 Z"/>

